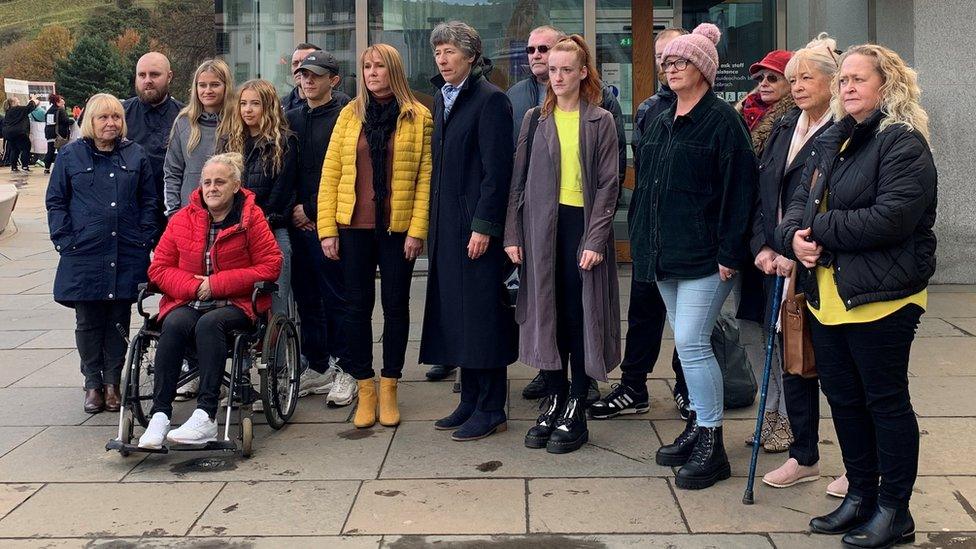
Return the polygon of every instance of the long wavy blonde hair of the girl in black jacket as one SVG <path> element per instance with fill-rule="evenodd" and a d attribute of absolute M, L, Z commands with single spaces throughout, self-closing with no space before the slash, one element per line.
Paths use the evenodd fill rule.
<path fill-rule="evenodd" d="M 241 118 L 241 96 L 244 95 L 245 90 L 255 92 L 261 100 L 261 107 L 264 110 L 258 123 L 258 138 L 267 140 L 273 145 L 261 161 L 264 164 L 264 172 L 275 176 L 281 172 L 285 149 L 288 146 L 285 137 L 288 133 L 288 122 L 282 114 L 277 90 L 274 84 L 267 80 L 255 79 L 244 82 L 228 100 L 230 114 L 223 118 L 217 127 L 216 152 L 244 154 L 244 142 L 250 133 L 244 124 L 244 119 Z"/>

